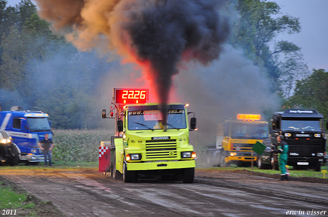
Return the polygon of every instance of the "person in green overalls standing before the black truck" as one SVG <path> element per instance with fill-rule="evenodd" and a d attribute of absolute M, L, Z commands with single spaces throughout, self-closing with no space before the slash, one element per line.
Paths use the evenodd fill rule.
<path fill-rule="evenodd" d="M 288 143 L 283 141 L 283 136 L 279 135 L 277 137 L 278 144 L 277 150 L 271 150 L 274 153 L 278 153 L 278 163 L 281 178 L 279 181 L 289 181 L 288 175 L 286 174 L 286 165 L 288 163 Z"/>

